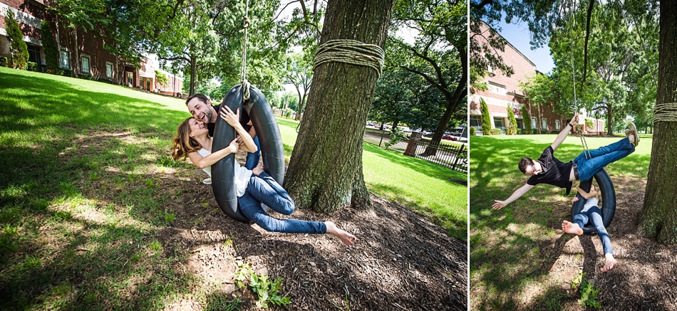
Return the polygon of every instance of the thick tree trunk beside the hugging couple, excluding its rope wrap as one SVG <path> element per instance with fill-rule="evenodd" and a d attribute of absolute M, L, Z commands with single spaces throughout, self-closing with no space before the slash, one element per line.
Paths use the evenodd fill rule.
<path fill-rule="evenodd" d="M 353 39 L 383 47 L 395 0 L 329 0 L 320 43 Z M 371 208 L 362 175 L 362 139 L 378 73 L 366 66 L 324 63 L 291 154 L 284 186 L 301 208 Z"/>

